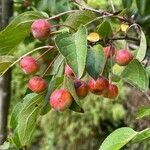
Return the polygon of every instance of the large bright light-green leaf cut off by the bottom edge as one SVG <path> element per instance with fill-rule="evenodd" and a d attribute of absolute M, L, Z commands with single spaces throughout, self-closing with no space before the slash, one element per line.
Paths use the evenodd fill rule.
<path fill-rule="evenodd" d="M 137 132 L 123 127 L 112 132 L 102 143 L 99 150 L 119 150 L 136 136 Z"/>

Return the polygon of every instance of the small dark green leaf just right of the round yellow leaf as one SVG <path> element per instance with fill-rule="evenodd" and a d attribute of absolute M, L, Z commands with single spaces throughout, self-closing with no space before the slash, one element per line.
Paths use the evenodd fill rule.
<path fill-rule="evenodd" d="M 103 21 L 98 26 L 97 32 L 99 33 L 100 37 L 108 38 L 112 35 L 112 27 L 108 21 Z"/>

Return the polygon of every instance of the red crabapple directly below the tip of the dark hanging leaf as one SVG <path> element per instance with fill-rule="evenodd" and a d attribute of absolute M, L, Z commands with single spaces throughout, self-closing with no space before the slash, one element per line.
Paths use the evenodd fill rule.
<path fill-rule="evenodd" d="M 101 95 L 108 86 L 109 82 L 104 76 L 100 76 L 96 81 L 90 78 L 88 82 L 89 90 L 96 95 Z"/>

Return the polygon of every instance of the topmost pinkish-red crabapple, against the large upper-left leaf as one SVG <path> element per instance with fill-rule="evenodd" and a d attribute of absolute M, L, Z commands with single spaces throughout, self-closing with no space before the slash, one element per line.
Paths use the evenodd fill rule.
<path fill-rule="evenodd" d="M 39 40 L 46 39 L 50 34 L 50 25 L 45 19 L 38 19 L 32 23 L 32 35 Z"/>

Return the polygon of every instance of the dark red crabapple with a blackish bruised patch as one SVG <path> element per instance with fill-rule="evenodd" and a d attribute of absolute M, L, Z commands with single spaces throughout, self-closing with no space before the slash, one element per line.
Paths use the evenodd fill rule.
<path fill-rule="evenodd" d="M 84 81 L 78 79 L 75 79 L 73 83 L 78 97 L 86 97 L 88 94 L 88 85 Z"/>

